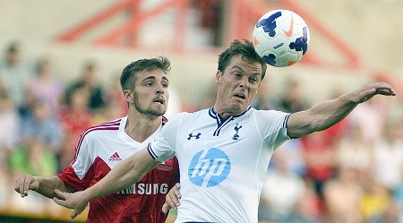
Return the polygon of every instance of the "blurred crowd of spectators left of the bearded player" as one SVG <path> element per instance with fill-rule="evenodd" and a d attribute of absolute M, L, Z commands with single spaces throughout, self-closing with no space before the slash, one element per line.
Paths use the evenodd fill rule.
<path fill-rule="evenodd" d="M 84 61 L 77 80 L 62 81 L 51 57 L 33 63 L 21 44 L 4 48 L 0 62 L 0 210 L 41 212 L 51 200 L 13 193 L 16 176 L 54 176 L 73 160 L 81 133 L 127 113 L 119 77 L 99 82 L 98 64 Z"/>

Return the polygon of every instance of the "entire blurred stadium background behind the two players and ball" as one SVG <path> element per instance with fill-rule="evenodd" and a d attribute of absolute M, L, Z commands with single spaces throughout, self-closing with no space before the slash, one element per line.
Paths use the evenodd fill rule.
<path fill-rule="evenodd" d="M 0 3 L 0 222 L 73 222 L 71 210 L 36 193 L 21 199 L 14 178 L 56 175 L 81 132 L 125 116 L 118 80 L 126 64 L 171 60 L 167 117 L 210 107 L 220 51 L 252 39 L 254 23 L 278 8 L 304 18 L 310 45 L 299 63 L 268 68 L 253 107 L 296 112 L 370 81 L 388 82 L 398 96 L 375 97 L 329 130 L 282 145 L 260 220 L 403 222 L 403 1 Z"/>

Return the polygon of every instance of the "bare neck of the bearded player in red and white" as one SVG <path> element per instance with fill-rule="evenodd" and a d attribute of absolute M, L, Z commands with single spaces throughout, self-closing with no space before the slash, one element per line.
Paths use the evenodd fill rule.
<path fill-rule="evenodd" d="M 129 113 L 124 132 L 136 142 L 143 142 L 159 129 L 161 122 L 161 116 L 144 116 Z"/>

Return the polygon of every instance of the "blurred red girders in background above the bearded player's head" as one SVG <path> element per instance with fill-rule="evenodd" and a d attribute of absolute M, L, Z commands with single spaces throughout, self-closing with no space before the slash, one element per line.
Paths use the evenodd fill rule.
<path fill-rule="evenodd" d="M 104 36 L 96 39 L 94 44 L 99 46 L 119 46 L 138 47 L 137 34 L 142 24 L 151 18 L 166 12 L 169 8 L 176 9 L 176 37 L 172 47 L 176 51 L 184 50 L 184 25 L 189 0 L 167 0 L 163 4 L 147 10 L 141 11 L 139 5 L 141 0 L 122 0 L 113 4 L 103 11 L 97 13 L 86 21 L 77 24 L 73 29 L 66 30 L 56 39 L 62 42 L 73 42 L 85 35 L 86 32 L 94 29 L 103 22 L 114 18 L 119 13 L 130 13 L 128 21 L 117 27 L 115 30 L 106 33 Z"/>

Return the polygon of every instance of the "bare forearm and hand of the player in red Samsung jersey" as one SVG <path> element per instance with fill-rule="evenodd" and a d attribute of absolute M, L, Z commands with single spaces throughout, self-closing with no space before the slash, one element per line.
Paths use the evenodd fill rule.
<path fill-rule="evenodd" d="M 21 175 L 14 182 L 14 190 L 21 194 L 21 197 L 28 196 L 28 191 L 35 191 L 48 198 L 56 196 L 55 190 L 72 193 L 75 190 L 58 176 L 30 176 Z"/>

